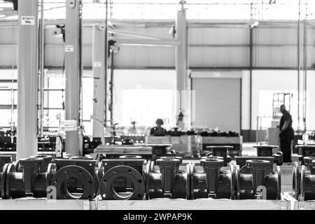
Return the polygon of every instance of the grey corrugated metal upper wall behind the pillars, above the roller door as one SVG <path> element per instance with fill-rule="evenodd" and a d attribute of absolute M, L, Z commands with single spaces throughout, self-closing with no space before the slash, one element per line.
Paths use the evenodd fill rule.
<path fill-rule="evenodd" d="M 309 23 L 314 24 L 314 21 Z M 150 36 L 169 36 L 174 22 L 144 22 L 143 26 L 119 27 Z M 249 66 L 249 22 L 243 25 L 205 22 L 188 23 L 189 66 L 191 68 L 240 68 Z M 301 55 L 302 55 L 301 24 Z M 18 29 L 0 27 L 0 66 L 16 65 Z M 118 36 L 118 38 L 130 38 Z M 315 29 L 307 29 L 307 66 L 315 66 Z M 61 67 L 64 58 L 61 36 L 54 36 L 53 27 L 45 29 L 45 66 Z M 302 57 L 301 57 L 302 59 Z M 302 64 L 302 60 L 301 60 Z M 92 66 L 92 27 L 83 28 L 83 65 Z M 175 66 L 174 47 L 121 45 L 115 57 L 116 68 L 169 68 Z M 293 69 L 297 66 L 297 23 L 261 22 L 253 29 L 254 69 Z"/>

